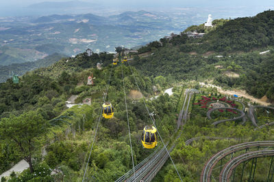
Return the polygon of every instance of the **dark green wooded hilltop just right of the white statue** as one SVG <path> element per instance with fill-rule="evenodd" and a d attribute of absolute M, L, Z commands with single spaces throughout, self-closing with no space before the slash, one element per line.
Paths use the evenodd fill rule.
<path fill-rule="evenodd" d="M 252 48 L 273 46 L 274 11 L 253 17 L 236 18 L 205 36 L 203 48 L 216 52 L 249 51 Z"/>

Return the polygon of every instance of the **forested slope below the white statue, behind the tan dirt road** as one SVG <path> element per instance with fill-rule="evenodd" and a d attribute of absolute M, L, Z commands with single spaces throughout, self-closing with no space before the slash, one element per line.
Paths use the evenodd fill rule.
<path fill-rule="evenodd" d="M 148 76 L 175 80 L 214 80 L 227 87 L 240 87 L 251 95 L 273 100 L 274 11 L 249 18 L 236 18 L 207 33 L 201 39 L 175 35 L 140 48 L 153 52 L 135 57 L 134 66 Z M 191 28 L 191 30 L 193 27 Z M 260 55 L 259 52 L 270 50 Z M 238 74 L 227 76 L 227 72 Z M 249 80 L 249 81 L 247 81 Z"/>

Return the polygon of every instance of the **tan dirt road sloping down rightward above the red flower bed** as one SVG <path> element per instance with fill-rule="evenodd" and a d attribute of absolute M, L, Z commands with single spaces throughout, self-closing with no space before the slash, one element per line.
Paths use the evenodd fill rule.
<path fill-rule="evenodd" d="M 238 95 L 239 97 L 245 97 L 249 100 L 251 100 L 251 102 L 256 102 L 258 104 L 261 104 L 263 106 L 269 106 L 271 103 L 266 102 L 266 100 L 260 100 L 257 99 L 251 95 L 249 95 L 246 91 L 242 91 L 242 90 L 235 90 L 235 91 L 230 91 L 230 90 L 223 90 L 221 87 L 218 87 L 216 85 L 212 85 L 212 84 L 205 84 L 204 82 L 199 82 L 200 85 L 206 86 L 206 87 L 216 87 L 217 90 L 219 91 L 219 93 L 221 94 L 227 94 L 227 95 Z"/>

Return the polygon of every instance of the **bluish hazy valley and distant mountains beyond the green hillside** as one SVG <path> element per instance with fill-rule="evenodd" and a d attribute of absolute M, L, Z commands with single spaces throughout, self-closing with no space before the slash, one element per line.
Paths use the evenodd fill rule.
<path fill-rule="evenodd" d="M 67 6 L 76 1 L 70 2 Z M 43 5 L 52 4 L 33 6 Z M 95 14 L 5 17 L 0 19 L 0 65 L 34 61 L 53 52 L 77 55 L 86 48 L 114 52 L 116 46 L 144 45 L 184 30 L 189 19 L 188 15 L 178 18 L 147 11 L 108 17 Z"/>

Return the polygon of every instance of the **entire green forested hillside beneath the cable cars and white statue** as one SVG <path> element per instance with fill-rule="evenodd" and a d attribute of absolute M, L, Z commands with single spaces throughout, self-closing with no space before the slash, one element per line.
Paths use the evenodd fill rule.
<path fill-rule="evenodd" d="M 18 84 L 11 79 L 0 83 L 0 173 L 20 160 L 29 164 L 27 170 L 13 172 L 1 181 L 82 181 L 84 175 L 84 181 L 115 181 L 131 170 L 133 163 L 136 166 L 160 150 L 162 142 L 168 144 L 174 164 L 168 160 L 153 181 L 179 181 L 179 176 L 183 181 L 199 181 L 203 165 L 214 153 L 241 142 L 273 140 L 271 108 L 256 110 L 254 118 L 263 127 L 254 130 L 245 108 L 256 103 L 199 84 L 213 82 L 246 89 L 256 97 L 266 95 L 274 100 L 271 42 L 262 45 L 258 38 L 255 43 L 247 41 L 247 49 L 239 45 L 223 50 L 240 44 L 236 29 L 248 29 L 254 21 L 267 30 L 264 35 L 271 40 L 272 14 L 267 11 L 251 18 L 217 21 L 221 24 L 201 39 L 184 33 L 162 38 L 118 65 L 112 64 L 114 55 L 107 52 L 91 56 L 84 52 L 27 72 Z M 228 25 L 234 31 L 223 31 Z M 239 36 L 251 40 L 253 33 Z M 218 46 L 216 40 L 225 39 L 228 43 Z M 218 48 L 212 49 L 214 46 Z M 270 51 L 260 54 L 263 50 Z M 97 63 L 102 63 L 101 70 Z M 87 85 L 89 76 L 94 85 Z M 164 93 L 169 87 L 173 87 L 169 89 L 172 93 Z M 72 97 L 71 107 L 66 102 Z M 86 100 L 90 104 L 83 104 Z M 103 100 L 112 103 L 111 119 L 101 117 Z M 236 111 L 217 106 L 209 119 L 212 104 L 220 103 Z M 178 124 L 182 111 L 186 115 Z M 225 119 L 232 121 L 212 125 Z M 162 138 L 154 149 L 145 149 L 142 130 L 153 122 Z M 215 138 L 209 140 L 208 136 Z M 186 145 L 186 140 L 195 137 L 201 138 Z M 256 163 L 258 181 L 266 181 L 266 171 L 270 170 L 265 163 L 269 161 L 263 158 Z M 240 171 L 252 168 L 249 164 Z M 239 172 L 239 179 L 237 175 Z M 247 181 L 249 175 L 242 175 L 242 179 Z"/>

